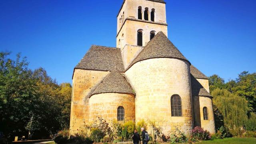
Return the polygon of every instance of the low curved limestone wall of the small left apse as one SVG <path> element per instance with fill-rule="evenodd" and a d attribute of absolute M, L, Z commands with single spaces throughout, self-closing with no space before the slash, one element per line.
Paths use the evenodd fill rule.
<path fill-rule="evenodd" d="M 134 94 L 102 93 L 90 97 L 90 121 L 97 116 L 108 122 L 117 119 L 118 106 L 124 107 L 124 121 L 135 120 Z"/>

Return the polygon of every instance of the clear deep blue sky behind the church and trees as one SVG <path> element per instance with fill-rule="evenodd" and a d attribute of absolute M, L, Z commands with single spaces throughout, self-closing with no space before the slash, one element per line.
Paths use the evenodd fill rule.
<path fill-rule="evenodd" d="M 168 38 L 206 76 L 256 72 L 256 0 L 165 0 Z M 116 45 L 122 0 L 0 0 L 0 51 L 58 83 L 92 44 Z"/>

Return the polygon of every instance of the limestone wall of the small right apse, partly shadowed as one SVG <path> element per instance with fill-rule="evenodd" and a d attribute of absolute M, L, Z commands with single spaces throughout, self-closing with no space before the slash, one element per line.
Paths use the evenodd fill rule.
<path fill-rule="evenodd" d="M 208 109 L 208 120 L 204 120 L 203 108 Z M 201 126 L 210 133 L 215 133 L 212 98 L 206 96 L 193 96 L 194 125 Z"/>

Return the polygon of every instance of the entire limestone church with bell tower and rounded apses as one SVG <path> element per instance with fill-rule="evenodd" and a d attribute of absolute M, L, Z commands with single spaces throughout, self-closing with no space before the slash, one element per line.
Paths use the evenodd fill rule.
<path fill-rule="evenodd" d="M 164 0 L 124 0 L 116 48 L 92 45 L 75 66 L 70 134 L 97 116 L 154 121 L 164 134 L 215 132 L 208 77 L 167 37 Z"/>

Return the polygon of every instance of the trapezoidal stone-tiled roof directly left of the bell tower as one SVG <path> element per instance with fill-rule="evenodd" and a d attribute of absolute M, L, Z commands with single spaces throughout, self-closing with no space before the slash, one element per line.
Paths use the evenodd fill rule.
<path fill-rule="evenodd" d="M 75 68 L 124 72 L 121 50 L 92 45 Z"/>

